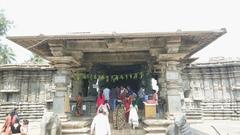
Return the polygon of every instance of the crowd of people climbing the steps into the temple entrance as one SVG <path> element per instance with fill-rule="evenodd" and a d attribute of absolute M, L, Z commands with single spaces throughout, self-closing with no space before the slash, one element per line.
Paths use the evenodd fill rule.
<path fill-rule="evenodd" d="M 109 89 L 101 87 L 96 101 L 96 116 L 91 125 L 91 133 L 110 134 L 109 112 L 115 129 L 123 129 L 126 123 L 133 129 L 139 126 L 138 109 L 144 101 L 145 89 L 135 93 L 130 86 L 116 86 Z M 98 125 L 99 123 L 99 125 Z M 105 125 L 104 125 L 105 124 Z M 105 128 L 103 128 L 105 126 Z"/>

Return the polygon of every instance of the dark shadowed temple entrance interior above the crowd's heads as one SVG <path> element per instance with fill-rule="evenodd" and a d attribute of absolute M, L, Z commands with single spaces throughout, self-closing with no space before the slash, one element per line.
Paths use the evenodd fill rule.
<path fill-rule="evenodd" d="M 135 73 L 142 73 L 142 76 L 135 77 Z M 116 86 L 129 86 L 134 93 L 138 93 L 140 86 L 144 86 L 147 93 L 151 92 L 151 77 L 146 64 L 134 65 L 106 65 L 96 64 L 90 74 L 104 74 L 106 76 L 115 76 L 114 80 L 83 79 L 82 93 L 84 97 L 97 96 L 97 89 L 100 87 L 115 88 Z M 77 84 L 79 85 L 79 84 Z M 94 87 L 95 86 L 95 87 Z M 76 86 L 73 86 L 76 87 Z M 76 92 L 74 92 L 76 93 Z"/>

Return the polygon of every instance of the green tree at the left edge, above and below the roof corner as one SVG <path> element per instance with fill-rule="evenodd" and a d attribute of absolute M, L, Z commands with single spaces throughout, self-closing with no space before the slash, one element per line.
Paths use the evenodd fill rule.
<path fill-rule="evenodd" d="M 0 36 L 6 34 L 10 28 L 11 22 L 6 19 L 2 10 L 0 10 Z M 0 64 L 9 64 L 15 61 L 15 54 L 12 48 L 0 42 Z"/>

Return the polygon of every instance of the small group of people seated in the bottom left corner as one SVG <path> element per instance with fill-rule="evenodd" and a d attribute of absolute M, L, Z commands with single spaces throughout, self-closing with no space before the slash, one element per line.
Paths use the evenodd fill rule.
<path fill-rule="evenodd" d="M 1 133 L 3 135 L 28 135 L 28 123 L 29 121 L 24 119 L 20 124 L 17 108 L 14 108 L 11 113 L 7 114 Z"/>

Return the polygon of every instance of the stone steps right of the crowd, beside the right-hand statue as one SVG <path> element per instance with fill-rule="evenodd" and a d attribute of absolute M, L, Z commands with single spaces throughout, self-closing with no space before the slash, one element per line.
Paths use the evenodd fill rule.
<path fill-rule="evenodd" d="M 172 123 L 165 119 L 147 119 L 143 121 L 146 135 L 165 135 L 167 127 Z"/>

